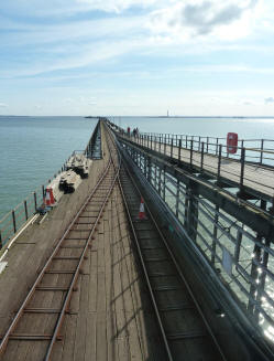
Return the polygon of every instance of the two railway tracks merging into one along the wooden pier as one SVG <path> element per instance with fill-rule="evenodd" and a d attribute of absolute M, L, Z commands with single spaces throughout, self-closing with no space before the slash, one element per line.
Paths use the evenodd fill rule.
<path fill-rule="evenodd" d="M 163 337 L 166 354 L 161 360 L 226 360 L 147 206 L 147 219 L 136 219 L 141 194 L 125 168 L 120 169 L 118 152 L 109 135 L 107 138 L 110 160 L 2 337 L 0 360 L 51 359 L 55 342 L 63 339 L 62 323 L 70 312 L 70 298 L 77 290 L 86 253 L 114 187 L 124 201 Z"/>

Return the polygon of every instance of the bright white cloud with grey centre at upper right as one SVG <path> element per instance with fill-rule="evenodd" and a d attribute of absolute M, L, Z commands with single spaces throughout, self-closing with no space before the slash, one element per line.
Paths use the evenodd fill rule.
<path fill-rule="evenodd" d="M 249 34 L 260 0 L 186 0 L 154 11 L 150 29 L 154 34 L 180 39 L 234 40 Z"/>

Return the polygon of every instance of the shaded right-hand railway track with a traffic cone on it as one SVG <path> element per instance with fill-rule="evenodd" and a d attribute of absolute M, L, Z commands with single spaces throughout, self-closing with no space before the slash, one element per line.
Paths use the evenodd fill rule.
<path fill-rule="evenodd" d="M 136 251 L 163 336 L 166 360 L 226 360 L 147 205 L 146 220 L 138 219 L 141 193 L 124 167 L 120 171 L 120 184 Z"/>

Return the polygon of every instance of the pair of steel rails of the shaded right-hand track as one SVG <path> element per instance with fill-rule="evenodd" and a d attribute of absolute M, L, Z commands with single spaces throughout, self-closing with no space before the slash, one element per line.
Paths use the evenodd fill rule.
<path fill-rule="evenodd" d="M 128 176 L 131 179 L 131 181 L 132 181 L 135 190 L 138 191 L 138 193 L 140 194 L 140 197 L 142 197 L 141 191 L 139 190 L 135 181 L 133 180 L 133 178 L 132 178 L 131 173 L 129 172 L 129 170 L 128 170 L 128 168 L 127 168 L 125 164 L 124 164 L 124 168 L 127 169 Z M 153 294 L 153 290 L 152 290 L 152 286 L 151 286 L 151 283 L 150 283 L 150 277 L 149 277 L 149 274 L 147 274 L 147 270 L 146 270 L 145 262 L 143 259 L 142 251 L 141 251 L 141 247 L 140 247 L 139 242 L 138 242 L 138 236 L 136 236 L 136 233 L 135 233 L 135 230 L 134 230 L 134 225 L 133 225 L 133 222 L 132 222 L 132 217 L 130 215 L 129 206 L 128 206 L 128 203 L 127 203 L 127 200 L 125 200 L 124 192 L 122 190 L 122 185 L 121 185 L 120 179 L 119 179 L 119 185 L 120 185 L 122 199 L 123 199 L 123 202 L 124 202 L 124 206 L 125 206 L 125 210 L 127 210 L 127 214 L 128 214 L 128 217 L 129 217 L 129 222 L 130 222 L 130 225 L 131 225 L 131 230 L 132 230 L 132 233 L 133 233 L 134 243 L 136 244 L 136 248 L 138 248 L 138 253 L 139 253 L 139 256 L 140 256 L 140 261 L 141 261 L 141 264 L 142 264 L 142 267 L 143 267 L 143 270 L 144 270 L 145 280 L 147 283 L 147 287 L 149 287 L 149 290 L 150 290 L 150 296 L 152 298 L 153 307 L 154 307 L 154 310 L 155 310 L 155 314 L 156 314 L 156 318 L 157 318 L 157 321 L 158 321 L 158 325 L 160 325 L 160 328 L 161 328 L 161 332 L 162 332 L 162 336 L 163 336 L 163 340 L 164 340 L 164 343 L 165 343 L 165 347 L 166 347 L 166 350 L 167 350 L 168 359 L 169 360 L 173 360 L 173 357 L 172 357 L 172 353 L 171 353 L 171 349 L 169 349 L 169 346 L 168 346 L 168 341 L 167 341 L 167 337 L 166 337 L 166 333 L 165 333 L 165 330 L 164 330 L 164 327 L 163 327 L 163 321 L 161 319 L 161 315 L 160 315 L 160 311 L 157 309 L 157 304 L 156 304 L 156 300 L 155 300 L 155 297 L 154 297 L 154 294 Z M 216 344 L 216 347 L 217 347 L 217 349 L 218 349 L 218 351 L 219 351 L 222 360 L 226 361 L 227 359 L 226 359 L 226 357 L 224 357 L 224 354 L 223 354 L 223 352 L 222 352 L 222 350 L 221 350 L 221 348 L 220 348 L 220 346 L 219 346 L 219 343 L 218 343 L 218 341 L 217 341 L 213 332 L 211 331 L 211 328 L 210 328 L 210 326 L 209 326 L 209 323 L 208 323 L 208 321 L 207 321 L 207 319 L 206 319 L 206 317 L 205 317 L 205 315 L 204 315 L 204 312 L 202 312 L 202 310 L 201 310 L 198 301 L 196 300 L 195 295 L 193 294 L 189 284 L 187 283 L 186 278 L 184 277 L 184 275 L 183 275 L 183 273 L 180 270 L 180 267 L 179 267 L 179 265 L 178 265 L 178 263 L 177 263 L 177 261 L 176 261 L 173 252 L 171 251 L 171 248 L 169 248 L 169 246 L 168 246 L 168 244 L 167 244 L 167 242 L 166 242 L 163 233 L 161 232 L 161 230 L 160 230 L 160 227 L 158 227 L 158 225 L 157 225 L 154 216 L 152 215 L 149 205 L 145 204 L 145 206 L 146 206 L 146 211 L 147 211 L 147 213 L 149 213 L 149 215 L 150 215 L 153 224 L 155 225 L 155 227 L 156 227 L 156 230 L 157 230 L 157 232 L 158 232 L 158 234 L 161 236 L 161 240 L 163 241 L 163 243 L 164 243 L 164 245 L 165 245 L 165 247 L 166 247 L 166 249 L 167 249 L 167 252 L 168 252 L 168 254 L 169 254 L 169 256 L 171 256 L 171 258 L 173 261 L 173 264 L 175 265 L 175 268 L 176 268 L 176 270 L 177 270 L 177 273 L 178 273 L 182 282 L 186 286 L 187 291 L 189 293 L 189 295 L 190 295 L 190 297 L 191 297 L 191 299 L 193 299 L 193 301 L 194 301 L 194 304 L 195 304 L 195 306 L 196 306 L 196 308 L 197 308 L 197 310 L 198 310 L 198 312 L 199 312 L 199 315 L 200 315 L 200 317 L 202 319 L 202 322 L 206 326 L 206 329 L 208 330 L 208 332 L 209 332 L 209 335 L 210 335 L 213 343 Z"/>

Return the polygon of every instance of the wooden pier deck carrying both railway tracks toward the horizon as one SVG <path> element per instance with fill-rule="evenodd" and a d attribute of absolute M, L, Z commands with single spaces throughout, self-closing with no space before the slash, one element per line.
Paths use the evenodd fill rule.
<path fill-rule="evenodd" d="M 190 259 L 175 256 L 174 229 L 149 202 L 144 219 L 138 216 L 138 177 L 120 163 L 105 125 L 101 137 L 102 159 L 92 162 L 89 178 L 44 223 L 30 225 L 6 256 L 0 360 L 246 359 L 253 343 L 249 349 L 229 315 L 219 317 Z M 179 157 L 178 149 L 168 151 Z"/>

